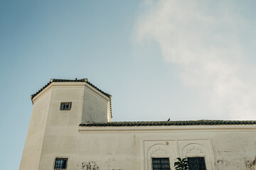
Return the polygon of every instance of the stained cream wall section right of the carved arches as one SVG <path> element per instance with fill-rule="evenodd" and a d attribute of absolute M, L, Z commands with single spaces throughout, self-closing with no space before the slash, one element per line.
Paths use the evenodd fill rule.
<path fill-rule="evenodd" d="M 218 132 L 213 147 L 218 169 L 253 170 L 256 155 L 256 132 Z"/>

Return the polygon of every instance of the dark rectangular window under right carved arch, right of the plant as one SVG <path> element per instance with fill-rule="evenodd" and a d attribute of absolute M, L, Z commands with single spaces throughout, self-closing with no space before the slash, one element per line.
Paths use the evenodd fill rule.
<path fill-rule="evenodd" d="M 204 157 L 188 157 L 189 170 L 206 170 Z"/>

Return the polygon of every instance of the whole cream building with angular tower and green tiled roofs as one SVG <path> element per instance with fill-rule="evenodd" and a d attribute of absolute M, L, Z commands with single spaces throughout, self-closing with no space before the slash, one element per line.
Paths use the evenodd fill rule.
<path fill-rule="evenodd" d="M 256 169 L 256 121 L 111 122 L 111 96 L 87 79 L 50 79 L 31 99 L 20 170 L 166 170 L 177 157 Z"/>

